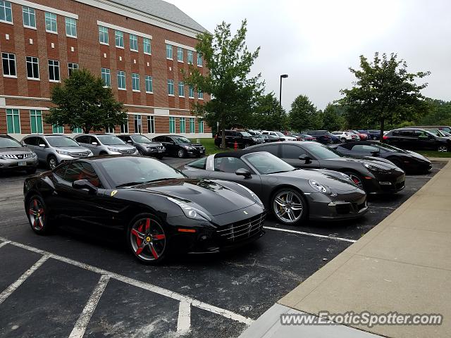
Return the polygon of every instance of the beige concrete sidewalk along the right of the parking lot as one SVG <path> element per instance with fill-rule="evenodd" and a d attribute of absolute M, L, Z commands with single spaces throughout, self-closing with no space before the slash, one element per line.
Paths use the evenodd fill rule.
<path fill-rule="evenodd" d="M 400 208 L 280 299 L 240 337 L 451 337 L 450 291 L 448 161 Z M 343 325 L 280 325 L 281 313 L 296 311 L 440 313 L 444 319 L 440 326 L 356 326 L 360 330 Z"/>

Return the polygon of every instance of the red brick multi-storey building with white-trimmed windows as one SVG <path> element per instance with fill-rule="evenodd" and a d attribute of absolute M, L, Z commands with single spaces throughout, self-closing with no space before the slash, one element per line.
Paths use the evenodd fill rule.
<path fill-rule="evenodd" d="M 209 96 L 183 84 L 205 29 L 161 0 L 0 0 L 0 133 L 81 132 L 46 125 L 51 87 L 75 68 L 101 76 L 128 110 L 108 132 L 211 137 L 192 115 Z"/>

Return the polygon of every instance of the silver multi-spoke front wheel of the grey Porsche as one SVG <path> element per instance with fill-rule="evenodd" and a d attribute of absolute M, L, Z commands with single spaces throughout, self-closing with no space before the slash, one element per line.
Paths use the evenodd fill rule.
<path fill-rule="evenodd" d="M 307 217 L 307 202 L 295 189 L 283 188 L 272 199 L 273 214 L 278 221 L 295 225 Z"/>

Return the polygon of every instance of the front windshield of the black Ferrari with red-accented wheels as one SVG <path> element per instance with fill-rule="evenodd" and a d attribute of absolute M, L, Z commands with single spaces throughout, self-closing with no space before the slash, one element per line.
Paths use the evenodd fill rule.
<path fill-rule="evenodd" d="M 184 178 L 167 164 L 146 157 L 116 157 L 99 161 L 115 187 Z"/>

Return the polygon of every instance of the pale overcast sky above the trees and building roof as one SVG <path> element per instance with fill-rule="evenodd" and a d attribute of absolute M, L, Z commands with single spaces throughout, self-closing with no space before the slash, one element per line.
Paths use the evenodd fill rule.
<path fill-rule="evenodd" d="M 359 55 L 395 52 L 410 72 L 430 70 L 423 94 L 451 101 L 450 0 L 166 0 L 210 32 L 247 18 L 247 46 L 261 46 L 254 73 L 287 111 L 299 94 L 323 109 L 351 87 Z"/>

